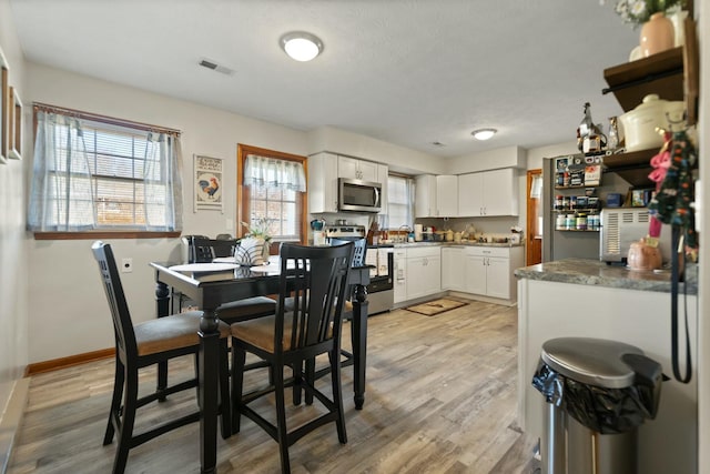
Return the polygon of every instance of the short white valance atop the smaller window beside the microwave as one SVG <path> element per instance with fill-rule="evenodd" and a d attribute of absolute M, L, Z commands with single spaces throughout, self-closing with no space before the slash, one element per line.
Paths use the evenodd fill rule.
<path fill-rule="evenodd" d="M 247 154 L 243 184 L 305 192 L 306 173 L 303 163 Z"/>

